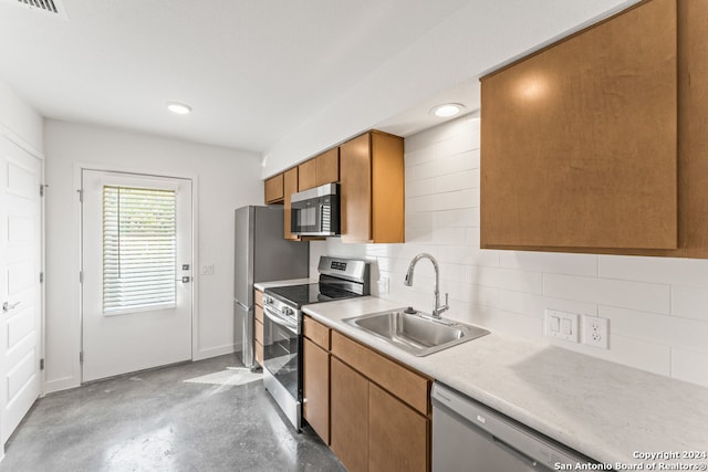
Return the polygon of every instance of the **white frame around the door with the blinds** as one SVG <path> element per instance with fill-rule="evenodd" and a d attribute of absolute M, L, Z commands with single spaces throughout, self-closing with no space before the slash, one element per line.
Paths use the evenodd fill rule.
<path fill-rule="evenodd" d="M 84 170 L 97 170 L 102 172 L 118 172 L 118 174 L 128 174 L 134 176 L 144 176 L 144 177 L 163 177 L 163 178 L 174 178 L 174 179 L 187 179 L 191 181 L 191 199 L 190 199 L 190 210 L 191 210 L 191 263 L 192 263 L 192 272 L 191 272 L 191 359 L 195 359 L 195 354 L 199 346 L 199 212 L 198 212 L 198 196 L 199 196 L 199 180 L 196 174 L 190 172 L 175 172 L 175 171 L 156 171 L 155 169 L 140 169 L 136 167 L 127 167 L 119 166 L 114 164 L 106 162 L 86 162 L 86 161 L 75 161 L 74 162 L 74 189 L 76 190 L 76 198 L 74 199 L 74 228 L 76 231 L 76 243 L 79 248 L 79 259 L 76 261 L 76 274 L 81 273 L 83 270 L 83 217 L 82 217 L 82 202 L 80 200 L 80 190 L 82 182 L 82 172 Z M 79 280 L 79 277 L 77 277 Z M 73 370 L 76 373 L 76 379 L 79 384 L 83 384 L 83 368 L 81 366 L 80 353 L 83 352 L 83 297 L 82 297 L 83 283 L 79 280 L 76 285 L 75 296 L 77 297 L 77 306 L 79 306 L 79 317 L 76 322 L 79 323 L 79 331 L 75 333 L 75 339 L 77 343 L 74 345 L 75 347 L 75 360 Z"/>

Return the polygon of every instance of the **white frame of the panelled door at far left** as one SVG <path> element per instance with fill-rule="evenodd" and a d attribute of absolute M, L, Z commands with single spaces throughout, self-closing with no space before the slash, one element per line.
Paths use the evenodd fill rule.
<path fill-rule="evenodd" d="M 43 280 L 40 282 L 40 359 L 44 359 L 44 368 L 40 369 L 40 398 L 46 394 L 46 221 L 45 221 L 45 199 L 46 199 L 46 181 L 44 175 L 44 153 L 37 149 L 30 143 L 24 140 L 20 135 L 4 127 L 0 123 L 0 137 L 8 139 L 30 156 L 40 161 L 40 185 L 43 186 L 43 197 L 40 198 L 40 273 Z M 40 189 L 37 189 L 40 191 Z M 38 274 L 39 276 L 39 274 Z M 0 444 L 0 459 L 4 457 L 4 444 Z"/>

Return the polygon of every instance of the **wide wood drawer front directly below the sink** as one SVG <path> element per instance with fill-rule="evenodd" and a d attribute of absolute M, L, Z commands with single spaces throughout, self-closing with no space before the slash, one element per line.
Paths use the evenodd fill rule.
<path fill-rule="evenodd" d="M 430 412 L 430 379 L 403 367 L 368 347 L 332 332 L 332 355 L 378 384 L 423 415 Z"/>

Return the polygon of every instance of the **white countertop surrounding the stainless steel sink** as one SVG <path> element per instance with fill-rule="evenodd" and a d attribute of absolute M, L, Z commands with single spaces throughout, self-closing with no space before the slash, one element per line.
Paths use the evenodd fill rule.
<path fill-rule="evenodd" d="M 496 333 L 416 357 L 342 322 L 400 306 L 366 296 L 303 311 L 596 461 L 614 466 L 642 463 L 635 452 L 708 453 L 708 388 Z"/>

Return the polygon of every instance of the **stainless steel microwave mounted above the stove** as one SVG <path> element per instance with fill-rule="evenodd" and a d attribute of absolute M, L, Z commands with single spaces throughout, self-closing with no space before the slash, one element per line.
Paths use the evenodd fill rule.
<path fill-rule="evenodd" d="M 293 234 L 340 234 L 339 183 L 326 183 L 293 193 L 290 203 L 290 232 Z"/>

